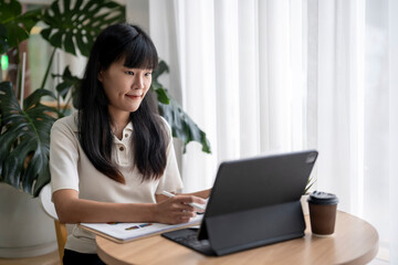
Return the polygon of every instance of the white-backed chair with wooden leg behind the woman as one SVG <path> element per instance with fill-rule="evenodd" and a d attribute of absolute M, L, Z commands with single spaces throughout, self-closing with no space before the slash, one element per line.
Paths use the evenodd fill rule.
<path fill-rule="evenodd" d="M 51 187 L 50 184 L 46 184 L 43 187 L 43 189 L 40 191 L 40 202 L 43 206 L 44 212 L 52 219 L 54 219 L 54 226 L 55 226 L 55 233 L 56 233 L 56 241 L 59 246 L 59 254 L 60 254 L 60 262 L 62 265 L 62 258 L 64 254 L 64 247 L 66 243 L 67 237 L 67 231 L 66 225 L 63 223 L 60 223 L 54 203 L 51 201 Z"/>

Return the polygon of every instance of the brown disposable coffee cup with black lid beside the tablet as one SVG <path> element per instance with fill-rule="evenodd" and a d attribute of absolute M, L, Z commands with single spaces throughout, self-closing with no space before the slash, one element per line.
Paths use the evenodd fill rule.
<path fill-rule="evenodd" d="M 308 197 L 312 233 L 316 236 L 333 235 L 338 199 L 335 194 L 314 191 Z"/>

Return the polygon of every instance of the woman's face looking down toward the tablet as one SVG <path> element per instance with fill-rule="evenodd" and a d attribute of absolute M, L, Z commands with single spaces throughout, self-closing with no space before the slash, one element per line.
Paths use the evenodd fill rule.
<path fill-rule="evenodd" d="M 151 70 L 129 68 L 123 60 L 101 71 L 98 80 L 109 100 L 109 113 L 132 113 L 138 109 L 151 83 Z"/>

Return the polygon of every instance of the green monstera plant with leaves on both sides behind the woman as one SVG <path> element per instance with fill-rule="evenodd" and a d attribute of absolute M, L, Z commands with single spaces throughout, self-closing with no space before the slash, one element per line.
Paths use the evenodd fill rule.
<path fill-rule="evenodd" d="M 69 103 L 75 102 L 74 95 L 81 82 L 67 66 L 63 73 L 50 75 L 54 54 L 61 49 L 74 55 L 78 51 L 87 56 L 96 35 L 109 24 L 124 20 L 125 8 L 109 0 L 57 0 L 44 10 L 29 13 L 22 13 L 21 4 L 15 0 L 0 0 L 1 53 L 14 49 L 19 54 L 19 44 L 29 38 L 30 29 L 38 21 L 44 22 L 41 35 L 53 47 L 41 87 L 24 98 L 22 106 L 15 97 L 13 84 L 0 83 L 0 181 L 34 197 L 50 181 L 50 129 L 57 118 L 66 115 Z M 14 38 L 15 29 L 19 38 Z M 151 91 L 157 95 L 159 114 L 170 124 L 174 137 L 181 139 L 185 146 L 198 141 L 205 152 L 210 152 L 206 134 L 158 82 L 158 76 L 166 72 L 166 63 L 160 62 L 153 74 Z M 55 93 L 44 87 L 49 76 L 62 77 Z M 57 102 L 56 107 L 45 105 L 43 96 Z M 66 107 L 60 104 L 61 98 L 66 100 Z"/>

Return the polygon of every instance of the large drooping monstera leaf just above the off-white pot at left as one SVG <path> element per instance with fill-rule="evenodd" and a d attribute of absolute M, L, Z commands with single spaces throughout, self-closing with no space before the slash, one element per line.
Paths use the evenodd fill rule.
<path fill-rule="evenodd" d="M 38 195 L 41 187 L 50 181 L 50 129 L 56 109 L 40 103 L 38 89 L 24 99 L 22 110 L 10 82 L 0 83 L 0 176 L 2 181 Z"/>

